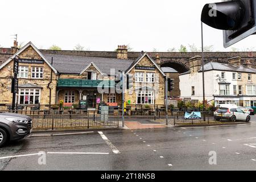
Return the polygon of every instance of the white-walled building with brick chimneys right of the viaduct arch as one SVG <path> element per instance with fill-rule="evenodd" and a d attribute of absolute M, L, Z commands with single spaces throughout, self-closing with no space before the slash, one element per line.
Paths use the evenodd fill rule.
<path fill-rule="evenodd" d="M 201 57 L 190 60 L 190 70 L 180 75 L 181 97 L 194 103 L 203 101 Z M 205 70 L 205 99 L 217 104 L 256 106 L 256 69 L 250 60 L 228 59 L 229 64 L 208 62 Z"/>

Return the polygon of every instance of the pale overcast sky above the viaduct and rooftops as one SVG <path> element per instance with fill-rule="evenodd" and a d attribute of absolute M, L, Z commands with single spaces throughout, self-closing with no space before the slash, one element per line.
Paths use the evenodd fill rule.
<path fill-rule="evenodd" d="M 18 34 L 19 43 L 31 41 L 44 49 L 81 44 L 91 51 L 113 51 L 118 44 L 129 44 L 134 51 L 167 51 L 193 43 L 200 48 L 201 9 L 212 2 L 216 1 L 3 1 L 0 45 L 12 46 L 10 35 Z M 204 25 L 204 38 L 215 51 L 230 51 L 222 46 L 222 31 Z M 255 41 L 256 36 L 250 36 L 232 47 L 256 49 Z"/>

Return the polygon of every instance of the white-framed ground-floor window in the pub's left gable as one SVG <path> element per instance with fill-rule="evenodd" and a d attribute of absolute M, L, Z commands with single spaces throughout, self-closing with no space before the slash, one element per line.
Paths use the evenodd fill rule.
<path fill-rule="evenodd" d="M 19 89 L 18 104 L 39 104 L 40 89 Z"/>

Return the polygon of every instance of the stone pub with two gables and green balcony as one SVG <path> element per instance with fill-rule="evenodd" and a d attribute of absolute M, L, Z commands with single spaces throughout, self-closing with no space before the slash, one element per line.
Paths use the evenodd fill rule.
<path fill-rule="evenodd" d="M 86 57 L 41 53 L 31 42 L 18 49 L 0 65 L 0 104 L 11 104 L 13 60 L 19 57 L 19 105 L 49 106 L 79 105 L 86 100 L 95 109 L 104 102 L 117 106 L 122 103 L 121 71 L 130 75 L 130 87 L 125 89 L 125 101 L 131 105 L 164 104 L 164 72 L 159 58 L 153 60 L 142 52 L 137 60 L 127 59 L 127 47 L 118 46 L 116 58 Z M 126 80 L 126 77 L 125 77 Z M 126 85 L 126 82 L 125 82 Z M 125 86 L 126 88 L 126 86 Z"/>

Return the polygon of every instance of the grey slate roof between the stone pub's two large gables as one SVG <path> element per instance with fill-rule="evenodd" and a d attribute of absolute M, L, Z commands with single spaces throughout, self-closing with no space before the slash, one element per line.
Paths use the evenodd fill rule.
<path fill-rule="evenodd" d="M 115 69 L 115 74 L 119 70 L 125 71 L 134 63 L 133 60 L 123 60 L 114 58 L 102 58 L 102 57 L 84 57 L 84 56 L 69 56 L 69 55 L 49 55 L 43 54 L 48 61 L 51 62 L 53 57 L 53 67 L 57 69 L 59 73 L 73 73 L 80 74 L 81 71 L 90 63 L 96 64 L 96 66 L 105 74 L 110 75 L 110 69 Z"/>

